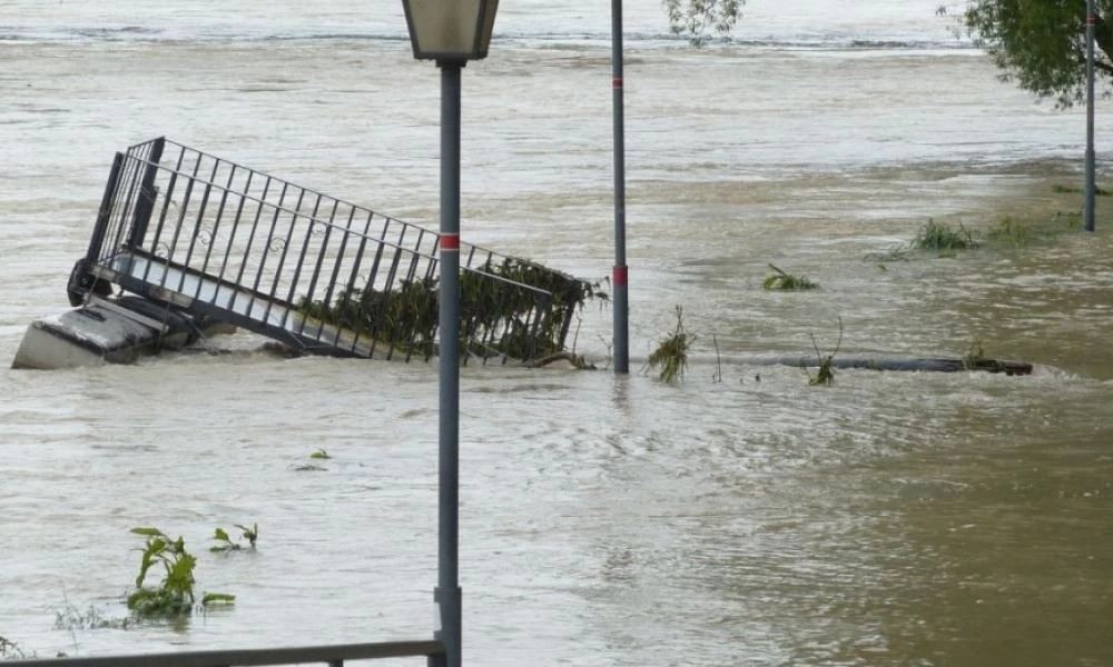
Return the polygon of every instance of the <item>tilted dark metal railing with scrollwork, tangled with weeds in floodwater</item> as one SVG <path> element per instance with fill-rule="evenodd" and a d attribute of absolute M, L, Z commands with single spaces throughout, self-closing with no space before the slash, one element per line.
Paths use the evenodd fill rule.
<path fill-rule="evenodd" d="M 83 268 L 307 351 L 427 359 L 439 345 L 439 242 L 434 231 L 159 138 L 117 153 Z M 467 243 L 461 267 L 465 359 L 563 348 L 587 283 Z"/>

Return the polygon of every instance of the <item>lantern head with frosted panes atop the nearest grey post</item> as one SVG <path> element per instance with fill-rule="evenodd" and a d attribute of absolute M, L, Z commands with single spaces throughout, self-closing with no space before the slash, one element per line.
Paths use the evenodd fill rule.
<path fill-rule="evenodd" d="M 499 0 L 402 0 L 414 58 L 463 64 L 486 58 Z"/>

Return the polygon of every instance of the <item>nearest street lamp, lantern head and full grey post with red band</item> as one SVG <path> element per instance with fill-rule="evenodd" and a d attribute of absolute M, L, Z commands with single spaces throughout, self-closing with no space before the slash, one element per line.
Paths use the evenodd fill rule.
<path fill-rule="evenodd" d="M 460 70 L 486 58 L 499 0 L 402 0 L 414 58 L 441 68 L 440 475 L 435 636 L 460 667 Z"/>

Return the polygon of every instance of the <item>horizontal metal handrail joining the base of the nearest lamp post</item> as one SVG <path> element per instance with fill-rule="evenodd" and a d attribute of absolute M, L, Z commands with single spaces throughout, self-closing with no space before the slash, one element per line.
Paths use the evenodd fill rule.
<path fill-rule="evenodd" d="M 88 658 L 42 658 L 4 660 L 4 667 L 256 667 L 336 660 L 377 658 L 416 658 L 444 655 L 444 644 L 422 641 L 381 641 L 376 644 L 337 644 L 283 648 L 197 650 Z"/>

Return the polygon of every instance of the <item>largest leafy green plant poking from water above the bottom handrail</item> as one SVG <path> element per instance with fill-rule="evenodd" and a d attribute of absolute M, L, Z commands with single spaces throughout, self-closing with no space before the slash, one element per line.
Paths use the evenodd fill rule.
<path fill-rule="evenodd" d="M 141 549 L 136 590 L 128 596 L 128 609 L 141 619 L 188 616 L 194 606 L 197 558 L 186 550 L 181 537 L 170 539 L 158 528 L 148 527 L 132 528 L 131 532 L 147 539 Z M 156 566 L 161 566 L 162 581 L 157 587 L 144 586 Z"/>

